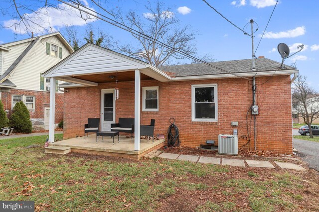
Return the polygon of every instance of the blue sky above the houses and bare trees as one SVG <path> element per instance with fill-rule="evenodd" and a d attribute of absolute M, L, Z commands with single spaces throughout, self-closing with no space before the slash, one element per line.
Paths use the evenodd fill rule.
<path fill-rule="evenodd" d="M 25 2 L 30 2 L 28 0 Z M 51 1 L 51 0 L 49 0 Z M 207 0 L 219 12 L 226 16 L 240 28 L 243 28 L 250 19 L 259 25 L 255 33 L 255 47 L 263 33 L 276 0 Z M 19 0 L 23 2 L 23 0 Z M 58 4 L 57 1 L 51 1 Z M 89 0 L 88 0 L 89 2 Z M 122 8 L 124 11 L 135 10 L 143 14 L 146 0 L 116 0 L 110 1 L 110 7 Z M 237 60 L 251 58 L 251 38 L 244 35 L 239 29 L 228 23 L 213 9 L 207 6 L 202 0 L 164 0 L 164 3 L 171 7 L 174 15 L 180 19 L 181 24 L 190 24 L 198 32 L 195 43 L 198 53 L 201 55 L 210 54 L 217 61 Z M 88 4 L 93 7 L 91 3 Z M 99 11 L 98 8 L 93 7 Z M 279 43 L 286 43 L 291 47 L 291 54 L 297 51 L 299 44 L 304 44 L 305 49 L 295 56 L 288 58 L 285 64 L 291 65 L 296 62 L 301 75 L 308 77 L 309 84 L 319 91 L 319 74 L 316 69 L 319 56 L 319 1 L 307 0 L 279 0 L 272 19 L 268 25 L 264 38 L 256 52 L 256 56 L 265 56 L 269 59 L 281 62 L 277 51 Z M 51 19 L 53 30 L 62 30 L 63 25 L 81 25 L 79 31 L 85 29 L 85 23 L 77 17 L 57 15 L 51 11 L 51 16 L 58 16 Z M 0 24 L 10 20 L 8 15 L 0 16 Z M 93 26 L 99 27 L 118 40 L 130 40 L 130 34 L 126 31 L 110 26 L 107 23 L 97 20 L 92 22 Z M 45 24 L 44 24 L 45 25 Z M 247 32 L 250 32 L 250 25 L 247 25 Z M 256 28 L 257 25 L 254 25 Z M 41 34 L 39 30 L 38 34 Z M 14 40 L 14 29 L 0 28 L 0 43 Z M 47 33 L 47 32 L 44 32 Z M 29 35 L 16 36 L 17 39 L 28 38 Z"/>

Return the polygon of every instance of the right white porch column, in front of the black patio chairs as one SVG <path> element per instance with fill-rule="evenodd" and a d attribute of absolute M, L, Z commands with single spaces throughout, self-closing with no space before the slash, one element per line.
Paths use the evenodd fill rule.
<path fill-rule="evenodd" d="M 135 138 L 134 138 L 134 150 L 140 150 L 140 119 L 141 119 L 141 71 L 135 70 Z"/>

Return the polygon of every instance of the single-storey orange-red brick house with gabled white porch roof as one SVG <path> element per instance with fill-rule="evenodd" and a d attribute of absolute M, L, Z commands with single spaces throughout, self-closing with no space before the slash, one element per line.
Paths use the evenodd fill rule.
<path fill-rule="evenodd" d="M 254 148 L 250 108 L 251 79 L 256 76 L 256 147 L 292 154 L 291 75 L 298 70 L 279 69 L 280 63 L 266 58 L 255 59 L 258 71 L 252 71 L 251 59 L 211 64 L 218 68 L 205 64 L 154 67 L 86 44 L 43 76 L 67 82 L 60 85 L 66 92 L 64 138 L 83 136 L 87 118 L 100 118 L 100 129 L 109 130 L 118 118 L 131 117 L 135 118 L 135 150 L 140 150 L 140 124 L 156 119 L 155 134 L 166 134 L 171 117 L 183 146 L 217 141 L 218 134 L 238 129 L 239 146 Z M 54 110 L 50 112 L 54 117 Z M 231 121 L 238 121 L 238 126 Z M 50 142 L 53 133 L 50 128 Z"/>

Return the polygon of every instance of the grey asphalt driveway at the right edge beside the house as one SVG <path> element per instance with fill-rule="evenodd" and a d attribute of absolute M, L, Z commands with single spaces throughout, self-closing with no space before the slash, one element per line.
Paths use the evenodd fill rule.
<path fill-rule="evenodd" d="M 309 164 L 310 168 L 319 171 L 319 143 L 293 138 L 298 155 Z"/>

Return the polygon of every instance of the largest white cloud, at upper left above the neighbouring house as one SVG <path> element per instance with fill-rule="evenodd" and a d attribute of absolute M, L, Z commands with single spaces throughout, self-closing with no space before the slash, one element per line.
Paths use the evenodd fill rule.
<path fill-rule="evenodd" d="M 84 4 L 87 4 L 86 0 L 82 0 Z M 90 8 L 90 7 L 89 7 Z M 82 8 L 86 10 L 85 8 Z M 90 8 L 93 9 L 93 8 Z M 92 11 L 89 11 L 92 14 L 95 14 Z M 83 18 L 81 18 L 81 14 Z M 89 22 L 96 21 L 97 18 L 94 18 L 91 15 L 88 15 L 84 12 L 80 12 L 78 9 L 75 9 L 69 5 L 64 3 L 58 4 L 57 8 L 48 7 L 48 8 L 39 8 L 35 12 L 25 14 L 28 19 L 25 20 L 27 23 L 29 31 L 33 31 L 34 34 L 42 34 L 44 32 L 55 32 L 58 31 L 59 28 L 65 26 L 66 24 L 69 26 L 76 25 L 82 26 Z M 3 26 L 9 28 L 12 32 L 18 34 L 24 34 L 26 32 L 26 27 L 23 24 L 17 25 L 16 29 L 14 23 L 15 19 L 10 19 L 3 21 Z"/>

